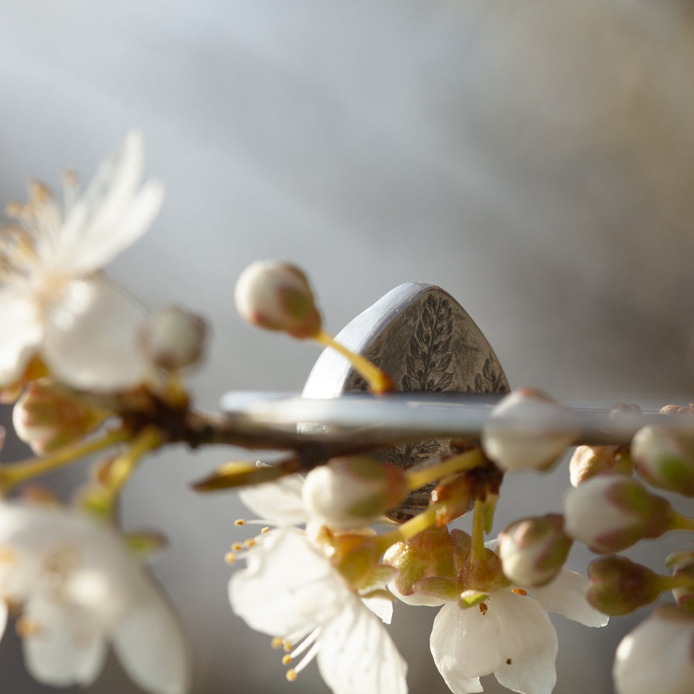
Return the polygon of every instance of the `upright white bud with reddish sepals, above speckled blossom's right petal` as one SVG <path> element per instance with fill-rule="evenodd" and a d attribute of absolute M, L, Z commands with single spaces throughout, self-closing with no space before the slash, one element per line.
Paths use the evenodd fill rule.
<path fill-rule="evenodd" d="M 499 535 L 497 548 L 505 575 L 526 588 L 550 582 L 564 566 L 573 543 L 563 526 L 560 514 L 511 523 Z"/>

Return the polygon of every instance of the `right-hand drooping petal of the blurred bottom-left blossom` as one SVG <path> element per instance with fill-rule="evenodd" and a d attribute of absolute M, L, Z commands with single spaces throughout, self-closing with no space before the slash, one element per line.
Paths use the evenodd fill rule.
<path fill-rule="evenodd" d="M 184 694 L 188 659 L 180 624 L 166 602 L 151 591 L 112 631 L 121 663 L 139 686 L 154 694 Z"/>

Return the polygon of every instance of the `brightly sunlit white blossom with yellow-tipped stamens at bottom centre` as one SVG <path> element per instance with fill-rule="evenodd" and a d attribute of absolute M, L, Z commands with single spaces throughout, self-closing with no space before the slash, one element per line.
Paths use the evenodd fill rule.
<path fill-rule="evenodd" d="M 232 576 L 232 609 L 257 631 L 279 637 L 296 679 L 314 658 L 335 694 L 405 694 L 407 664 L 385 627 L 301 531 L 262 536 Z"/>

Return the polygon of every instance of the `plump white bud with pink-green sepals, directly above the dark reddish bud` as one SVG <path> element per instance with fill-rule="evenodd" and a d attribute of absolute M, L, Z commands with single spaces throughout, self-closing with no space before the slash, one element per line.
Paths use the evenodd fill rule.
<path fill-rule="evenodd" d="M 591 477 L 564 498 L 564 530 L 594 552 L 620 552 L 672 527 L 668 500 L 633 477 L 605 473 Z"/>

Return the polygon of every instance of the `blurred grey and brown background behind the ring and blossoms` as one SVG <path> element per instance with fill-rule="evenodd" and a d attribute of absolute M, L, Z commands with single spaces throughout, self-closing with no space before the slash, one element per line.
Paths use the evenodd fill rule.
<path fill-rule="evenodd" d="M 144 131 L 167 199 L 109 271 L 153 308 L 210 320 L 208 361 L 192 378 L 201 407 L 227 389 L 301 389 L 318 355 L 235 314 L 235 278 L 257 258 L 304 266 L 332 332 L 400 282 L 433 282 L 477 321 L 514 386 L 686 403 L 693 8 L 2 0 L 0 198 L 24 198 L 32 177 L 55 185 L 67 167 L 86 181 L 130 128 Z M 244 511 L 188 483 L 239 455 L 162 452 L 126 492 L 124 525 L 171 538 L 154 568 L 189 635 L 194 691 L 324 692 L 314 667 L 286 684 L 269 639 L 228 609 L 223 555 L 246 536 L 233 526 Z M 559 510 L 567 477 L 508 480 L 498 529 Z M 79 479 L 56 484 L 67 493 Z M 575 552 L 574 568 L 587 558 Z M 557 619 L 555 691 L 611 692 L 613 649 L 642 616 L 600 632 Z M 447 691 L 428 650 L 433 617 L 396 610 L 412 692 Z M 49 691 L 24 675 L 10 632 L 2 691 Z M 111 663 L 90 691 L 139 690 Z"/>

